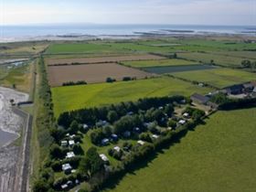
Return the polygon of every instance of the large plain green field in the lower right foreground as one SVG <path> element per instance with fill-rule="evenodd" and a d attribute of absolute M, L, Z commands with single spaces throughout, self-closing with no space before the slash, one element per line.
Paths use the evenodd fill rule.
<path fill-rule="evenodd" d="M 255 119 L 255 108 L 218 112 L 105 191 L 255 191 Z"/>

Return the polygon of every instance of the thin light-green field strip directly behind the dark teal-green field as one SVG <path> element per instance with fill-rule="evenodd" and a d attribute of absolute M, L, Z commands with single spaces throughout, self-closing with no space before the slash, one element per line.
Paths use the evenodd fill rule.
<path fill-rule="evenodd" d="M 125 66 L 130 66 L 133 68 L 198 65 L 198 63 L 195 61 L 189 61 L 185 59 L 138 60 L 138 61 L 123 61 L 122 63 Z"/>

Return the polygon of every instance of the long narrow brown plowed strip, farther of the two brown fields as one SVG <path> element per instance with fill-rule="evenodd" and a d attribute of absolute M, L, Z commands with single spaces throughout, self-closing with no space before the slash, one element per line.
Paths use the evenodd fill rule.
<path fill-rule="evenodd" d="M 48 65 L 64 65 L 64 64 L 92 64 L 92 63 L 106 63 L 118 62 L 128 60 L 150 60 L 150 59 L 165 59 L 164 57 L 155 55 L 131 55 L 131 56 L 112 56 L 101 58 L 78 58 L 78 59 L 46 59 Z"/>

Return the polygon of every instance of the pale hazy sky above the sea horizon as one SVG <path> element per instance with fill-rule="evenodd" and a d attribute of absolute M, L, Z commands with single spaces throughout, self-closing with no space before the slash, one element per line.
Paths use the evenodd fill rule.
<path fill-rule="evenodd" d="M 0 25 L 256 26 L 256 0 L 0 0 Z"/>

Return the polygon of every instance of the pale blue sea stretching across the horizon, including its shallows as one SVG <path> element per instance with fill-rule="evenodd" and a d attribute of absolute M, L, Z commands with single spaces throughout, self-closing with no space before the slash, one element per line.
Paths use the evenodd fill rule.
<path fill-rule="evenodd" d="M 56 24 L 1 26 L 0 42 L 88 38 L 132 38 L 176 35 L 244 35 L 256 37 L 256 26 Z"/>

